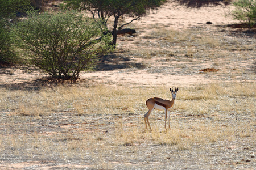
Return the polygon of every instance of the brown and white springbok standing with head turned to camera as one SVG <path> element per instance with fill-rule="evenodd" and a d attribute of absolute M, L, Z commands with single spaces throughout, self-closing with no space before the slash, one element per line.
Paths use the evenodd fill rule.
<path fill-rule="evenodd" d="M 161 99 L 161 98 L 158 98 L 158 97 L 147 99 L 146 105 L 148 107 L 148 112 L 144 115 L 146 129 L 147 129 L 147 124 L 148 124 L 148 126 L 151 130 L 151 127 L 150 127 L 150 124 L 149 124 L 149 121 L 148 121 L 148 117 L 150 116 L 150 113 L 152 111 L 154 111 L 154 109 L 156 109 L 158 111 L 165 111 L 166 118 L 167 118 L 167 114 L 168 114 L 168 125 L 169 125 L 169 129 L 171 129 L 170 128 L 170 109 L 175 104 L 175 98 L 176 98 L 176 94 L 177 94 L 178 90 L 179 90 L 179 88 L 176 88 L 176 87 L 175 87 L 175 90 L 170 88 L 170 91 L 172 93 L 172 100 L 164 100 L 164 99 Z M 166 118 L 165 118 L 164 128 L 166 128 Z"/>

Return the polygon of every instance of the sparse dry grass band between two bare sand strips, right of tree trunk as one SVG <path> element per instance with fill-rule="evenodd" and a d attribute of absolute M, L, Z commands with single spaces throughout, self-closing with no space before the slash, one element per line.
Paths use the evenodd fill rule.
<path fill-rule="evenodd" d="M 248 59 L 255 50 L 255 39 L 247 37 L 245 33 L 229 32 L 222 28 L 218 28 L 217 33 L 207 28 L 175 31 L 152 26 L 150 30 L 142 40 L 135 42 L 140 48 L 131 51 L 134 56 L 175 56 L 179 61 L 189 61 L 191 58 L 233 58 L 233 61 L 237 61 L 237 58 Z"/>

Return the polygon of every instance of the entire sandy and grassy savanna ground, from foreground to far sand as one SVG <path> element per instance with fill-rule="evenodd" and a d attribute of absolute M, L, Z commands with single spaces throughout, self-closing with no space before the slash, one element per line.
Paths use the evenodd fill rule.
<path fill-rule="evenodd" d="M 1 68 L 0 168 L 255 169 L 256 36 L 226 8 L 168 2 L 75 84 Z M 144 103 L 169 87 L 171 129 L 154 111 L 147 131 Z"/>

